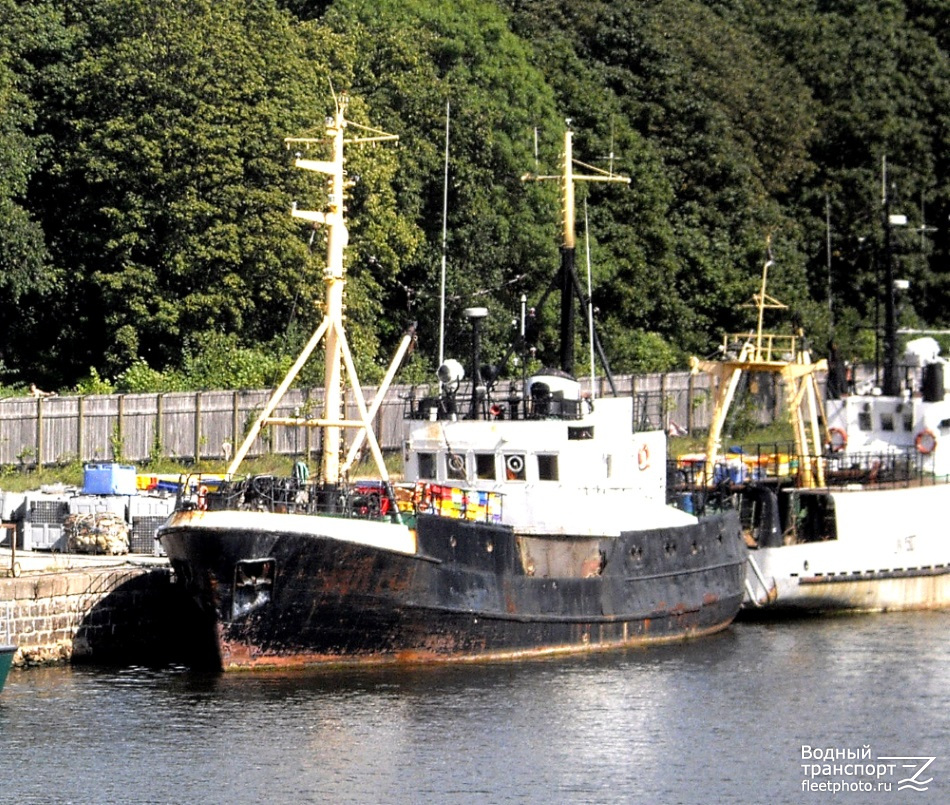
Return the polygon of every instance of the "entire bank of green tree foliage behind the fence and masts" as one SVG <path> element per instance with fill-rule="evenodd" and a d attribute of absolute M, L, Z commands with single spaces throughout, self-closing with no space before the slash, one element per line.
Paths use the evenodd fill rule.
<path fill-rule="evenodd" d="M 0 293 L 16 310 L 0 381 L 273 383 L 323 293 L 323 234 L 288 209 L 320 208 L 324 186 L 283 139 L 319 134 L 343 91 L 355 122 L 400 137 L 347 165 L 347 316 L 369 377 L 413 321 L 413 371 L 435 368 L 443 259 L 448 354 L 484 305 L 487 359 L 503 357 L 524 295 L 536 360 L 555 360 L 557 187 L 521 177 L 559 171 L 565 119 L 577 158 L 632 180 L 578 192 L 614 369 L 684 365 L 746 324 L 769 240 L 770 293 L 817 342 L 870 357 L 885 159 L 911 224 L 903 323 L 946 327 L 945 6 L 0 0 Z"/>

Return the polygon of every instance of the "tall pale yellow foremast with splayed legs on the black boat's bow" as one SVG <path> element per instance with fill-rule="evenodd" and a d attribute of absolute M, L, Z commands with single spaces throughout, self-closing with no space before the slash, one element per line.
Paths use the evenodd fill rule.
<path fill-rule="evenodd" d="M 348 182 L 346 181 L 346 171 L 344 170 L 343 150 L 345 145 L 386 142 L 397 140 L 395 134 L 386 134 L 385 132 L 370 129 L 365 126 L 359 126 L 346 119 L 347 96 L 341 95 L 336 99 L 336 112 L 332 118 L 327 118 L 326 136 L 323 138 L 309 137 L 288 137 L 285 143 L 289 148 L 291 145 L 298 145 L 309 148 L 319 143 L 330 143 L 332 157 L 330 160 L 304 159 L 298 155 L 294 165 L 303 170 L 315 171 L 326 174 L 329 177 L 329 188 L 327 199 L 327 210 L 325 212 L 315 210 L 299 210 L 296 203 L 291 209 L 291 215 L 294 218 L 301 218 L 305 221 L 311 221 L 314 227 L 327 227 L 327 265 L 324 270 L 324 283 L 326 285 L 324 297 L 324 316 L 320 326 L 311 336 L 310 341 L 304 347 L 303 351 L 297 357 L 296 362 L 290 368 L 284 377 L 280 386 L 271 396 L 264 410 L 261 412 L 257 421 L 249 430 L 244 442 L 234 455 L 234 459 L 228 466 L 227 474 L 234 475 L 237 468 L 247 455 L 248 450 L 258 437 L 265 425 L 305 425 L 309 427 L 319 427 L 324 430 L 323 438 L 323 456 L 321 460 L 321 480 L 325 484 L 339 483 L 343 474 L 349 469 L 353 460 L 354 451 L 345 465 L 341 466 L 340 456 L 342 453 L 342 429 L 356 428 L 369 443 L 370 451 L 376 460 L 377 469 L 384 481 L 388 481 L 388 474 L 383 462 L 382 452 L 379 449 L 379 443 L 372 430 L 372 417 L 379 407 L 379 401 L 386 393 L 389 382 L 395 374 L 395 366 L 401 362 L 406 350 L 409 347 L 411 336 L 403 338 L 397 351 L 390 371 L 387 373 L 387 381 L 377 391 L 376 400 L 370 410 L 366 407 L 363 399 L 361 385 L 356 374 L 356 366 L 353 363 L 353 357 L 350 353 L 349 344 L 346 339 L 346 331 L 343 327 L 343 290 L 346 285 L 344 269 L 344 251 L 349 240 L 349 231 L 346 227 L 344 194 Z M 358 128 L 368 133 L 368 136 L 346 138 L 345 132 L 348 127 Z M 323 417 L 319 419 L 300 419 L 272 417 L 287 389 L 290 388 L 294 378 L 306 364 L 313 350 L 324 341 L 324 407 Z M 343 380 L 344 369 L 346 377 L 354 391 L 356 407 L 359 410 L 360 418 L 358 420 L 347 420 L 343 415 Z"/>

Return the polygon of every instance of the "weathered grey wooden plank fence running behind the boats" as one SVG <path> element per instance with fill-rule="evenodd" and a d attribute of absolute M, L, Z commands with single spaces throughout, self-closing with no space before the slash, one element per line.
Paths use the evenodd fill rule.
<path fill-rule="evenodd" d="M 625 375 L 616 377 L 615 383 L 618 394 L 634 398 L 633 425 L 637 429 L 675 424 L 692 433 L 709 426 L 712 406 L 707 375 Z M 583 381 L 582 386 L 589 390 L 589 381 Z M 599 380 L 598 386 L 597 396 L 609 392 L 605 380 Z M 408 401 L 429 393 L 434 389 L 425 386 L 390 389 L 375 422 L 384 450 L 401 448 Z M 464 389 L 460 393 L 464 394 Z M 780 393 L 780 388 L 767 383 L 754 390 L 759 421 L 771 421 Z M 375 387 L 364 388 L 367 401 L 375 394 Z M 0 465 L 33 467 L 77 460 L 134 463 L 159 457 L 225 459 L 241 444 L 270 396 L 271 391 L 260 390 L 0 400 Z M 291 389 L 274 415 L 318 415 L 322 399 L 322 389 Z M 347 395 L 347 416 L 358 416 L 352 392 Z M 319 450 L 318 440 L 316 429 L 277 426 L 266 429 L 248 455 L 309 456 Z"/>

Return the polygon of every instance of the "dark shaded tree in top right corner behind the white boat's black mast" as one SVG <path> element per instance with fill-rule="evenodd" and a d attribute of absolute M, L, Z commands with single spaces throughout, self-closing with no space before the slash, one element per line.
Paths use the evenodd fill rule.
<path fill-rule="evenodd" d="M 945 326 L 950 301 L 943 268 L 950 245 L 944 226 L 950 212 L 946 4 L 759 0 L 719 5 L 796 70 L 821 109 L 811 145 L 817 169 L 789 209 L 806 233 L 810 295 L 825 299 L 830 205 L 839 341 L 857 349 L 875 325 L 883 291 L 884 157 L 894 211 L 910 222 L 907 230 L 895 232 L 897 270 L 911 280 L 905 312 Z M 921 237 L 926 224 L 940 228 Z"/>

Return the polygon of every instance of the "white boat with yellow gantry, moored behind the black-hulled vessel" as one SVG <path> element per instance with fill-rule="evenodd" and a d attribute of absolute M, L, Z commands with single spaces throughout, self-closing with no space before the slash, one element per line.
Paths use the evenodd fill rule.
<path fill-rule="evenodd" d="M 766 265 L 767 268 L 768 264 Z M 936 342 L 912 341 L 885 373 L 890 388 L 856 390 L 832 356 L 812 363 L 800 338 L 758 329 L 727 338 L 705 485 L 725 479 L 741 501 L 750 547 L 747 611 L 871 612 L 950 606 L 950 401 Z M 828 372 L 824 405 L 817 383 Z M 720 433 L 743 372 L 785 379 L 794 448 L 723 454 Z"/>

